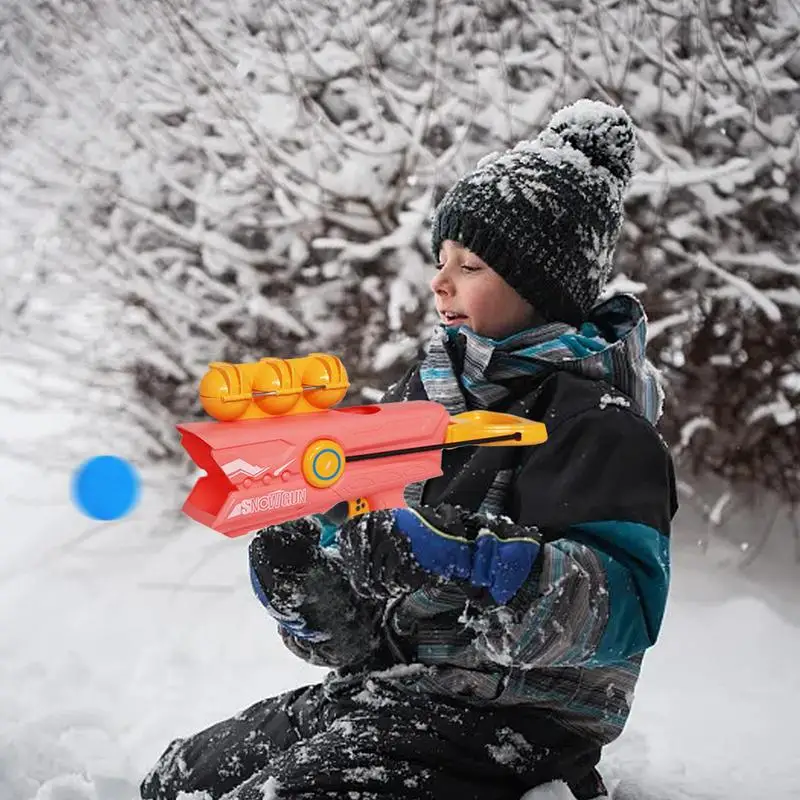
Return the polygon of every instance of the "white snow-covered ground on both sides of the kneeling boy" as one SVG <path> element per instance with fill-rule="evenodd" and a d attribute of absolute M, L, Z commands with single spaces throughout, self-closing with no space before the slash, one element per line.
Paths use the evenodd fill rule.
<path fill-rule="evenodd" d="M 11 437 L 25 428 L 6 417 Z M 0 457 L 0 798 L 133 800 L 172 738 L 322 672 L 251 597 L 245 539 L 170 517 L 153 476 L 130 518 L 93 523 L 40 452 Z M 687 524 L 662 639 L 601 768 L 617 800 L 800 798 L 798 573 L 770 553 L 757 582 L 715 567 Z"/>

